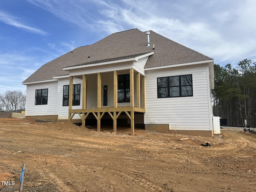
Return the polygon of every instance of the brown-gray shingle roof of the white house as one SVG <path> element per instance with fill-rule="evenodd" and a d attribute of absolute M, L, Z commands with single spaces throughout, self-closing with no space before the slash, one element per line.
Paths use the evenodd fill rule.
<path fill-rule="evenodd" d="M 68 66 L 113 61 L 146 54 L 153 51 L 153 44 L 155 52 L 149 56 L 145 68 L 212 59 L 153 31 L 150 31 L 150 46 L 147 47 L 146 32 L 132 29 L 113 33 L 92 45 L 78 47 L 73 52 L 68 52 L 44 64 L 23 83 L 68 75 L 68 72 L 63 70 Z"/>

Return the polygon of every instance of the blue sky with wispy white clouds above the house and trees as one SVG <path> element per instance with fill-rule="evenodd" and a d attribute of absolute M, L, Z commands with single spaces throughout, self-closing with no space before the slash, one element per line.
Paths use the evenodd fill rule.
<path fill-rule="evenodd" d="M 72 48 L 153 30 L 232 66 L 256 61 L 255 0 L 0 0 L 0 93 Z"/>

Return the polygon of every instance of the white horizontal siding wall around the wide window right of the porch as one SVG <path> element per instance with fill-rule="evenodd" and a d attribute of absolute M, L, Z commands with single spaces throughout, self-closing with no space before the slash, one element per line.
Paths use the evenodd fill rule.
<path fill-rule="evenodd" d="M 169 124 L 172 130 L 212 130 L 208 64 L 146 71 L 146 124 Z M 192 74 L 193 96 L 157 98 L 157 78 Z M 150 122 L 151 121 L 151 122 Z"/>

